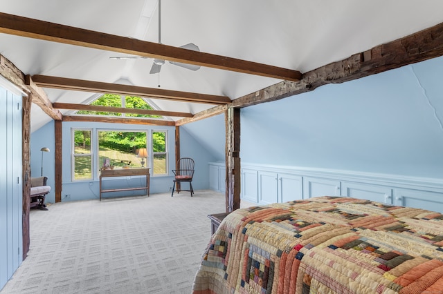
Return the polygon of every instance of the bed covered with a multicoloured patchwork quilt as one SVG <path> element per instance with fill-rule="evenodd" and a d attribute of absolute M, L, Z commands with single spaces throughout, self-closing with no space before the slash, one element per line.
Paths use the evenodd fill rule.
<path fill-rule="evenodd" d="M 192 293 L 443 293 L 443 215 L 327 196 L 235 210 Z"/>

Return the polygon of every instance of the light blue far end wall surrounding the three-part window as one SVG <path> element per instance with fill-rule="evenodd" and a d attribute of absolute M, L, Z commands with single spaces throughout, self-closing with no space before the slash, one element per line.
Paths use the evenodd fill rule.
<path fill-rule="evenodd" d="M 169 160 L 168 170 L 175 166 L 175 128 L 165 126 L 141 126 L 141 125 L 124 125 L 124 124 L 105 124 L 105 123 L 82 123 L 82 122 L 64 122 L 62 123 L 62 201 L 74 201 L 84 199 L 98 199 L 99 197 L 99 182 L 98 178 L 88 181 L 71 181 L 71 128 L 98 128 L 98 129 L 112 129 L 112 130 L 168 130 L 168 144 L 169 144 Z M 215 158 L 201 146 L 195 139 L 186 131 L 183 130 L 181 134 L 181 157 L 192 157 L 196 161 L 196 173 L 192 186 L 195 190 L 207 189 L 209 187 L 208 162 Z M 51 121 L 39 130 L 31 134 L 30 150 L 31 150 L 31 174 L 33 177 L 38 177 L 41 174 L 42 166 L 42 147 L 51 149 L 50 153 L 44 153 L 43 173 L 48 177 L 48 185 L 53 187 L 51 193 L 46 197 L 47 202 L 55 202 L 55 159 L 54 159 L 54 122 Z M 122 186 L 141 186 L 144 178 L 131 177 L 130 179 L 111 180 L 104 179 L 106 188 L 122 188 Z M 105 182 L 106 181 L 106 182 Z M 164 193 L 170 191 L 172 188 L 172 174 L 166 176 L 152 176 L 150 183 L 150 193 Z M 125 191 L 117 195 L 143 195 L 141 191 Z M 70 195 L 70 199 L 64 199 L 64 195 Z M 116 193 L 106 193 L 103 197 L 116 196 Z"/>

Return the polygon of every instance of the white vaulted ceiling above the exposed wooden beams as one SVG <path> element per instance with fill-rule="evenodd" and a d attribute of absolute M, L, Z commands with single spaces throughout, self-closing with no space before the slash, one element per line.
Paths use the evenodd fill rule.
<path fill-rule="evenodd" d="M 163 0 L 161 42 L 195 43 L 201 52 L 300 72 L 443 22 L 440 0 Z M 158 41 L 157 0 L 0 0 L 0 12 L 144 41 Z M 237 99 L 280 82 L 227 70 L 192 71 L 152 59 L 109 59 L 116 52 L 0 34 L 0 54 L 26 75 L 47 75 L 228 96 Z M 45 89 L 52 102 L 80 104 L 95 93 Z M 213 107 L 153 99 L 159 110 Z M 33 130 L 51 120 L 33 106 Z M 179 119 L 179 118 L 174 118 Z"/>

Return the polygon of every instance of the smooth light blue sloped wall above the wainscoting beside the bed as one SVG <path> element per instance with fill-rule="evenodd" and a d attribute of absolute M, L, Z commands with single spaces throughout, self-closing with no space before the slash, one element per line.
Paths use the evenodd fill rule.
<path fill-rule="evenodd" d="M 241 111 L 242 162 L 443 177 L 443 57 Z"/>

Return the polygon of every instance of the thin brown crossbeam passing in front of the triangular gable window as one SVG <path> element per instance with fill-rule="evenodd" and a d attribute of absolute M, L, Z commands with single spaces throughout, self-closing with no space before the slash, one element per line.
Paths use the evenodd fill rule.
<path fill-rule="evenodd" d="M 87 104 L 71 104 L 71 103 L 60 103 L 60 102 L 53 103 L 53 108 L 99 111 L 99 112 L 133 113 L 136 115 L 161 115 L 165 117 L 193 117 L 192 113 L 189 112 L 174 112 L 174 111 L 163 111 L 163 110 L 97 106 L 97 105 L 87 105 Z"/>

